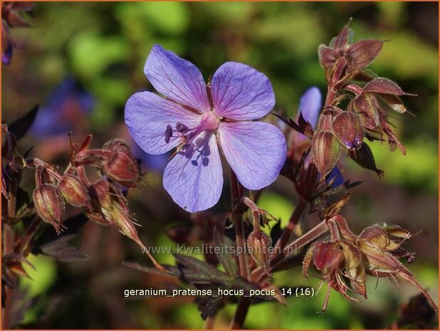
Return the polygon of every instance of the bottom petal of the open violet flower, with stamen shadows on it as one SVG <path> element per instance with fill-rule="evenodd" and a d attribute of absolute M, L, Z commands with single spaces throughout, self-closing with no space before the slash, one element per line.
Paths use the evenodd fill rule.
<path fill-rule="evenodd" d="M 202 132 L 193 149 L 182 149 L 164 172 L 164 189 L 189 212 L 209 209 L 220 199 L 223 173 L 215 135 Z"/>

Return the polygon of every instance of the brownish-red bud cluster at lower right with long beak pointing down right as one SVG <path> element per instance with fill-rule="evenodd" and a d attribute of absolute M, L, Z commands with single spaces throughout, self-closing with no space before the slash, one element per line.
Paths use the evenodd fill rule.
<path fill-rule="evenodd" d="M 339 214 L 326 220 L 330 229 L 330 241 L 320 241 L 308 248 L 303 261 L 303 274 L 308 277 L 308 270 L 313 263 L 320 271 L 323 282 L 328 283 L 323 310 L 327 307 L 330 288 L 337 290 L 347 300 L 355 300 L 347 291 L 367 298 L 366 275 L 376 278 L 389 278 L 397 284 L 397 277 L 417 287 L 437 310 L 435 303 L 412 273 L 399 258 L 414 262 L 414 253 L 402 248 L 402 243 L 411 237 L 409 231 L 390 224 L 376 224 L 365 228 L 356 236 L 350 231 L 345 219 Z"/>

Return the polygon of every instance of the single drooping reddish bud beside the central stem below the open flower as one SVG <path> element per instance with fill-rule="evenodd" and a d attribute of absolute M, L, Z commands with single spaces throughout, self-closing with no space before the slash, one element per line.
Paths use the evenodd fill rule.
<path fill-rule="evenodd" d="M 272 277 L 270 267 L 270 249 L 272 248 L 271 238 L 260 230 L 254 230 L 249 234 L 247 240 L 248 250 L 253 260 L 263 268 L 266 275 Z"/>

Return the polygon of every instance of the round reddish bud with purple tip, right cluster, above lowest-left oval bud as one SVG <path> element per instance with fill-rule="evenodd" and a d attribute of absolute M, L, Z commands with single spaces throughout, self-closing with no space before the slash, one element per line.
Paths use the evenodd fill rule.
<path fill-rule="evenodd" d="M 332 132 L 342 147 L 357 149 L 364 139 L 364 127 L 354 112 L 342 112 L 332 121 Z"/>

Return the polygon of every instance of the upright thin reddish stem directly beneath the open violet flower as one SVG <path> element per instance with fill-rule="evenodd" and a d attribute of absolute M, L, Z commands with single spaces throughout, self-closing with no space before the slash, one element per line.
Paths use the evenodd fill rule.
<path fill-rule="evenodd" d="M 239 181 L 231 169 L 231 198 L 232 198 L 232 221 L 236 231 L 236 246 L 239 253 L 239 274 L 245 279 L 250 279 L 248 261 L 246 258 L 246 241 L 244 240 L 244 228 L 241 214 L 236 211 L 236 206 L 241 200 Z"/>

